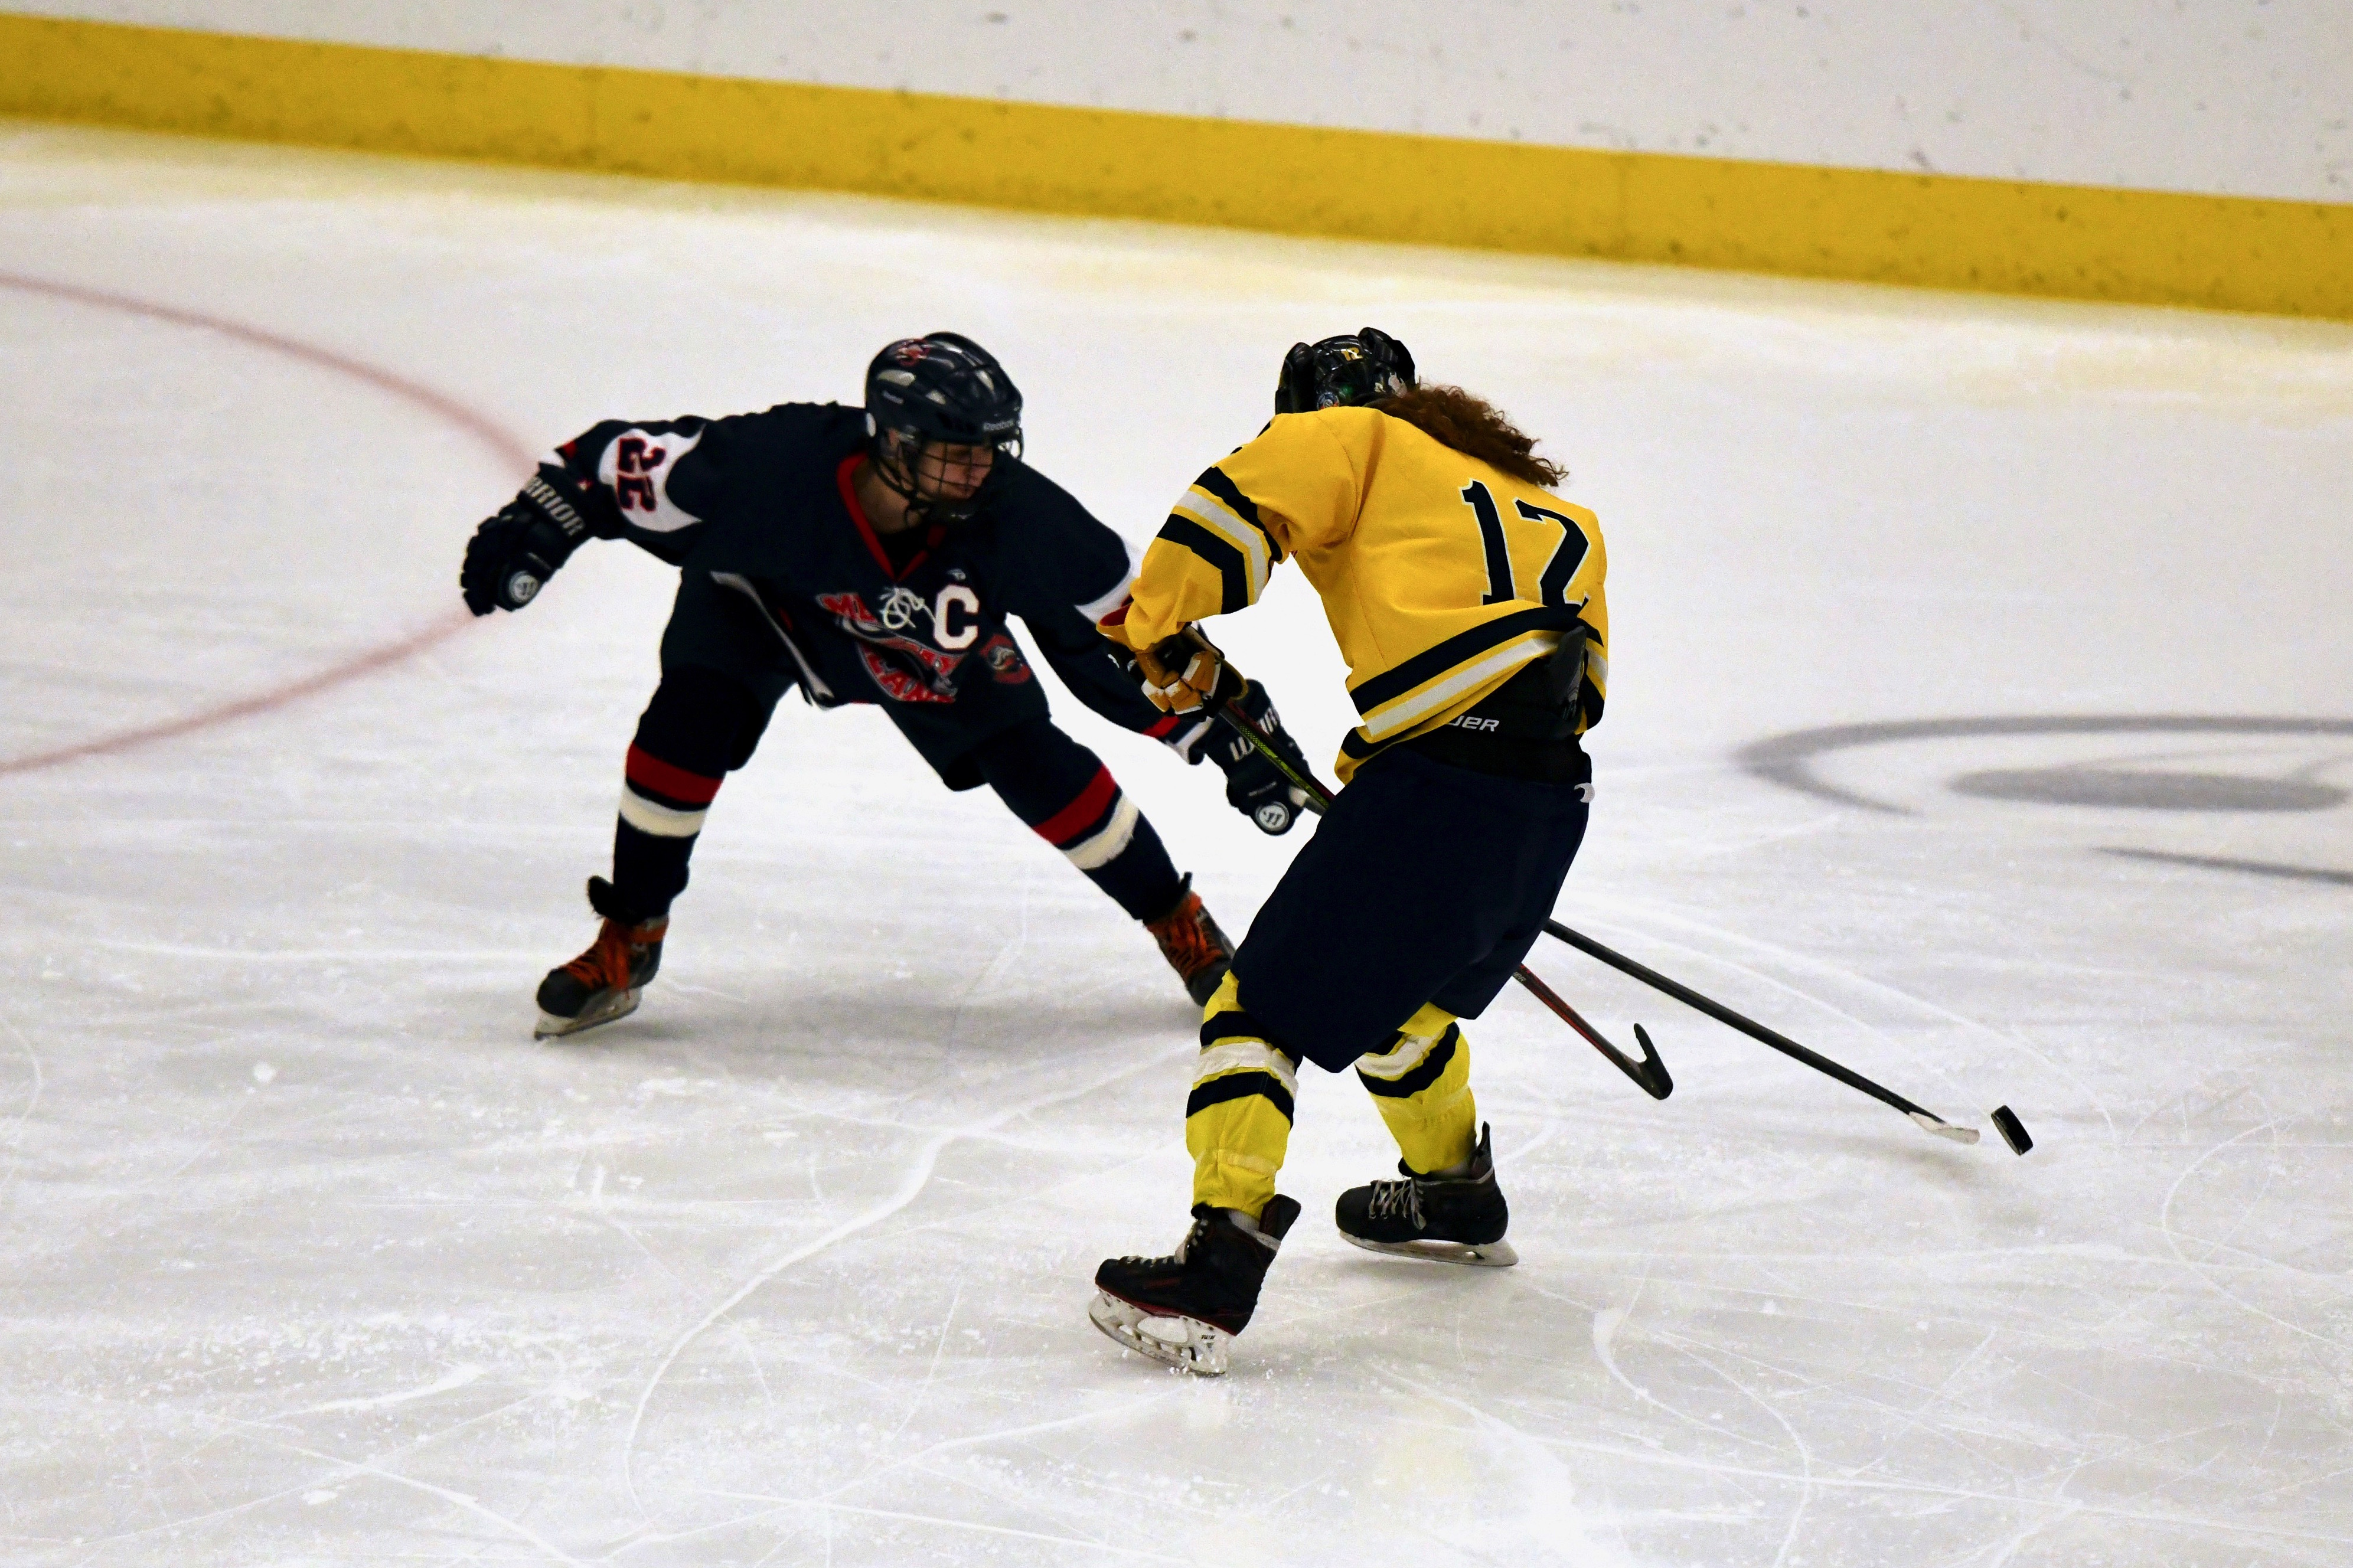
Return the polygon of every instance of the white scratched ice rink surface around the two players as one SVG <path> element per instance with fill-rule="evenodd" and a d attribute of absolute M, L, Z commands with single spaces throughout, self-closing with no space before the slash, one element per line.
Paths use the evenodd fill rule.
<path fill-rule="evenodd" d="M 1235 1373 L 1160 1373 L 1082 1304 L 1184 1229 L 1191 1008 L 800 704 L 642 1012 L 532 1043 L 673 582 L 461 624 L 534 450 L 955 327 L 1144 539 L 1365 323 L 1602 518 L 1562 918 L 2028 1158 L 1548 944 L 1673 1099 L 1504 996 L 1522 1264 L 1449 1271 L 1332 1231 L 1393 1151 L 1308 1074 Z M 2353 330 L 16 125 L 0 344 L 12 1568 L 2353 1561 Z M 1297 574 L 1221 631 L 1327 765 Z M 1056 711 L 1240 930 L 1297 841 Z"/>

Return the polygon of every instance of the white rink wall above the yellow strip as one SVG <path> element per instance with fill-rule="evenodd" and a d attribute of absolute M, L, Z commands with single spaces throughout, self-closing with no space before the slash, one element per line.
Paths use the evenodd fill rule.
<path fill-rule="evenodd" d="M 38 16 L 2353 202 L 2346 0 L 64 0 Z"/>

